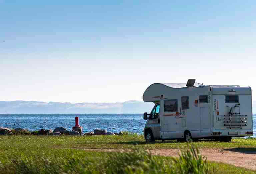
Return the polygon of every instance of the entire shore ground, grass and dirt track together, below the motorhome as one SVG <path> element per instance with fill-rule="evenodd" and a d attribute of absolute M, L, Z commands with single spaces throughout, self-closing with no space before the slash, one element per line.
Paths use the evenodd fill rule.
<path fill-rule="evenodd" d="M 256 173 L 255 147 L 255 138 L 146 143 L 143 135 L 129 132 L 122 136 L 14 132 L 0 136 L 0 173 Z"/>

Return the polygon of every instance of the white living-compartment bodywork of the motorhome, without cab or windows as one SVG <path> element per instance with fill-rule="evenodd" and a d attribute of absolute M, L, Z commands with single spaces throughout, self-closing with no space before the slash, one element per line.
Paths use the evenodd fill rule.
<path fill-rule="evenodd" d="M 230 90 L 233 91 L 230 92 Z M 200 103 L 200 95 L 207 95 L 208 102 Z M 231 123 L 231 126 L 229 125 L 230 123 L 224 123 L 224 121 L 228 121 L 224 118 L 229 117 L 223 115 L 228 115 L 230 107 L 234 108 L 238 104 L 226 103 L 226 95 L 237 95 L 239 97 L 240 114 L 246 115 L 246 120 L 242 120 L 246 121 L 246 123 Z M 181 108 L 181 97 L 183 96 L 189 97 L 189 109 Z M 155 134 L 158 134 L 156 136 L 161 139 L 184 138 L 186 130 L 191 133 L 192 138 L 215 136 L 239 137 L 252 136 L 246 134 L 248 131 L 253 131 L 251 96 L 250 87 L 199 86 L 172 88 L 166 84 L 155 83 L 146 89 L 143 100 L 154 103 L 160 102 L 160 132 Z M 164 101 L 169 99 L 177 100 L 177 111 L 164 111 Z M 196 103 L 196 100 L 198 103 Z M 235 107 L 235 109 L 238 109 L 238 107 Z M 233 112 L 238 111 L 233 110 Z M 230 129 L 230 127 L 232 128 Z M 213 135 L 213 132 L 220 132 L 220 134 Z"/>

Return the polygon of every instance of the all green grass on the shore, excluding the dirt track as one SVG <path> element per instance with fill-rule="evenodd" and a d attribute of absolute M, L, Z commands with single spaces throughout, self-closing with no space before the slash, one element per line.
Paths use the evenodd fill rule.
<path fill-rule="evenodd" d="M 134 149 L 133 144 L 136 145 Z M 256 147 L 255 139 L 234 139 L 232 143 L 196 142 L 199 148 Z M 79 148 L 133 149 L 134 153 L 106 153 Z M 65 148 L 65 149 L 63 149 Z M 185 157 L 176 163 L 171 157 L 154 156 L 142 149 L 187 148 L 176 141 L 146 144 L 142 136 L 0 136 L 0 173 L 187 173 L 188 166 L 199 173 L 256 173 L 224 163 Z M 194 161 L 194 162 L 193 162 Z M 199 166 L 199 168 L 200 168 Z M 177 172 L 179 171 L 179 172 Z M 200 172 L 201 171 L 201 172 Z M 194 173 L 196 173 L 194 171 Z"/>

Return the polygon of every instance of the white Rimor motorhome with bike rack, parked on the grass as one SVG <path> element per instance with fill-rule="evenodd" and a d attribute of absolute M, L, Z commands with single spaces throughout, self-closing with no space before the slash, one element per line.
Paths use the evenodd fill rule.
<path fill-rule="evenodd" d="M 253 136 L 250 87 L 186 83 L 154 83 L 143 94 L 153 102 L 144 127 L 146 141 L 177 139 L 197 141 Z"/>

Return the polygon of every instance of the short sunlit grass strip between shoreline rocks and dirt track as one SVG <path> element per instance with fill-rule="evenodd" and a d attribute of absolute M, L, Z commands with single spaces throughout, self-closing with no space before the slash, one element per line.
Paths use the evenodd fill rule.
<path fill-rule="evenodd" d="M 14 143 L 15 142 L 15 143 Z M 43 142 L 43 143 L 42 143 Z M 177 141 L 156 141 L 154 143 L 146 143 L 141 135 L 125 135 L 125 136 L 0 136 L 0 149 L 6 148 L 7 145 L 12 147 L 23 148 L 24 146 L 40 146 L 51 148 L 115 148 L 129 149 L 131 145 L 138 144 L 144 149 L 178 149 L 186 145 L 186 143 Z M 247 148 L 256 151 L 255 138 L 234 138 L 232 142 L 219 141 L 199 141 L 194 142 L 200 149 L 216 148 Z"/>

